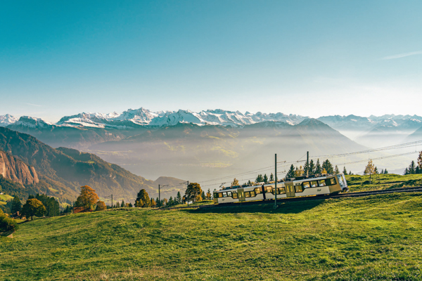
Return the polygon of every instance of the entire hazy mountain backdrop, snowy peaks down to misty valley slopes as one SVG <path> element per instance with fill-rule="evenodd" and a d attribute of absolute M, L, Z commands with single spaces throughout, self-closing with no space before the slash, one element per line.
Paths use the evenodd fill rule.
<path fill-rule="evenodd" d="M 63 117 L 55 124 L 34 117 L 3 115 L 0 126 L 34 136 L 60 148 L 57 150 L 63 154 L 70 153 L 64 149 L 68 148 L 97 155 L 141 177 L 167 176 L 190 181 L 269 166 L 274 152 L 281 159 L 294 160 L 306 151 L 311 155 L 330 155 L 418 141 L 422 137 L 422 117 L 416 115 L 335 115 L 312 119 L 226 110 L 151 112 L 142 107 L 122 113 L 80 113 Z M 401 171 L 409 159 L 378 162 L 378 168 Z M 343 163 L 347 161 L 351 159 L 343 159 Z M 362 166 L 356 164 L 352 169 L 363 169 L 359 165 Z M 248 180 L 247 176 L 243 178 Z M 150 185 L 148 180 L 145 183 Z"/>

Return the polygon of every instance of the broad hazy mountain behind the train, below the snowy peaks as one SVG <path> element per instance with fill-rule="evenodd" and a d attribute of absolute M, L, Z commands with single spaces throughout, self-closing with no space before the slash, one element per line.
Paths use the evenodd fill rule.
<path fill-rule="evenodd" d="M 92 145 L 89 152 L 134 174 L 142 171 L 149 178 L 157 178 L 165 171 L 168 176 L 200 182 L 270 166 L 274 153 L 280 161 L 292 161 L 307 150 L 311 155 L 327 155 L 362 149 L 328 125 L 306 119 L 294 126 L 285 122 L 262 122 L 242 128 L 177 124 L 149 129 L 122 141 Z"/>

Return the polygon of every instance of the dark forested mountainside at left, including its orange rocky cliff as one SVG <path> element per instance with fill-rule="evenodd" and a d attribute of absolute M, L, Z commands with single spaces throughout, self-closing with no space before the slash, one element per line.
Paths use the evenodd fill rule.
<path fill-rule="evenodd" d="M 124 198 L 127 202 L 134 202 L 141 189 L 152 196 L 157 194 L 155 181 L 136 176 L 96 155 L 70 148 L 54 149 L 33 136 L 2 127 L 0 175 L 23 186 L 23 190 L 15 193 L 27 196 L 28 192 L 40 192 L 67 203 L 75 201 L 82 185 L 91 186 L 103 199 L 113 194 L 115 200 Z M 175 178 L 159 180 L 183 182 Z"/>

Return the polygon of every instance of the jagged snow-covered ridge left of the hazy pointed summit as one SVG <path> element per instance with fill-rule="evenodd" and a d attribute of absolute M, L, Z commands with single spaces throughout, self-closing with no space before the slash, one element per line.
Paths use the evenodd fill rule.
<path fill-rule="evenodd" d="M 56 124 L 50 124 L 42 119 L 23 116 L 17 119 L 11 115 L 0 117 L 0 126 L 68 126 L 68 127 L 88 127 L 88 128 L 114 128 L 130 129 L 139 126 L 162 127 L 174 126 L 178 123 L 191 123 L 203 125 L 221 126 L 244 126 L 266 121 L 286 122 L 288 124 L 299 124 L 307 117 L 300 115 L 284 115 L 283 113 L 262 113 L 227 111 L 227 110 L 203 110 L 192 112 L 191 110 L 178 110 L 167 112 L 151 112 L 143 107 L 133 110 L 129 109 L 122 113 L 79 113 L 77 115 L 61 118 Z M 2 121 L 4 120 L 4 121 Z"/>

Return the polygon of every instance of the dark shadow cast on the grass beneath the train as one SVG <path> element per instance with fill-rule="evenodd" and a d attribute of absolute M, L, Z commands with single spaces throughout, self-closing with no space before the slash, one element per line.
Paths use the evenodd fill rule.
<path fill-rule="evenodd" d="M 278 207 L 274 209 L 274 202 L 268 204 L 246 205 L 234 204 L 224 207 L 181 209 L 192 214 L 238 214 L 238 213 L 268 213 L 268 214 L 298 214 L 307 211 L 324 203 L 321 200 L 296 201 L 296 202 L 277 202 Z"/>

